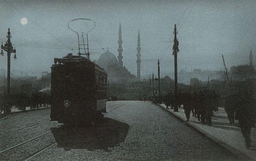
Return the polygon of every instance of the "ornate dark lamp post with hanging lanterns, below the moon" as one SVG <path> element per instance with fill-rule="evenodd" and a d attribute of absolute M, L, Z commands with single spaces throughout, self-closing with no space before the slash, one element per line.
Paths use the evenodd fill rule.
<path fill-rule="evenodd" d="M 16 53 L 16 49 L 13 49 L 12 47 L 12 43 L 10 41 L 10 38 L 12 37 L 11 32 L 10 32 L 10 28 L 8 29 L 7 32 L 7 41 L 6 43 L 3 45 L 1 45 L 1 49 L 4 49 L 4 51 L 7 52 L 7 97 L 9 97 L 10 95 L 10 57 L 11 57 L 11 53 Z M 1 50 L 0 53 L 3 56 L 3 50 Z M 16 59 L 16 54 L 13 57 L 14 59 Z"/>

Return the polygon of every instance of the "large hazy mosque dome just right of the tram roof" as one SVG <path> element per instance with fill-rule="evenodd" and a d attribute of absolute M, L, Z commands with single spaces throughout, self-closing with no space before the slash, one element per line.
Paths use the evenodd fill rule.
<path fill-rule="evenodd" d="M 116 64 L 118 64 L 118 59 L 112 52 L 109 52 L 109 50 L 100 55 L 98 60 L 98 65 L 100 65 L 102 68 L 107 68 L 109 65 Z"/>

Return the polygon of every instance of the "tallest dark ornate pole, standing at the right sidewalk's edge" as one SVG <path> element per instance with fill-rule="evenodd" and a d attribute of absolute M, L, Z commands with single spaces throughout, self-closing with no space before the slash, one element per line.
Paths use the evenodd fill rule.
<path fill-rule="evenodd" d="M 177 104 L 177 93 L 178 93 L 178 75 L 177 75 L 177 52 L 179 51 L 179 42 L 177 41 L 177 28 L 176 24 L 174 25 L 174 45 L 172 47 L 172 54 L 174 55 L 174 112 L 178 112 Z"/>

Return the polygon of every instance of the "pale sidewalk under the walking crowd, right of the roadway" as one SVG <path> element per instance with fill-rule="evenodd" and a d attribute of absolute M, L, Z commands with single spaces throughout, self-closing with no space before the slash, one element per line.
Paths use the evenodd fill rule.
<path fill-rule="evenodd" d="M 159 105 L 166 109 L 165 104 Z M 183 108 L 179 108 L 178 112 L 174 112 L 174 109 L 169 109 L 167 111 L 183 120 L 189 126 L 192 126 L 198 131 L 204 133 L 206 136 L 213 139 L 215 142 L 218 142 L 231 152 L 238 155 L 244 154 L 249 157 L 248 159 L 252 158 L 252 160 L 256 161 L 256 128 L 252 128 L 251 132 L 251 145 L 253 147 L 247 149 L 244 137 L 240 131 L 240 128 L 238 127 L 238 121 L 235 120 L 234 125 L 230 125 L 227 113 L 225 112 L 224 108 L 219 108 L 217 112 L 213 112 L 214 116 L 212 117 L 211 126 L 202 125 L 197 120 L 197 117 L 192 116 L 192 113 L 190 114 L 190 122 L 186 122 L 187 119 Z"/>

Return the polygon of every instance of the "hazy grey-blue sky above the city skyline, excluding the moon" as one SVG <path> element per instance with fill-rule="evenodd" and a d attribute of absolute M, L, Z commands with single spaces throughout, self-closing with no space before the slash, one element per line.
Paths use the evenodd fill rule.
<path fill-rule="evenodd" d="M 161 76 L 165 76 L 174 71 L 175 24 L 178 71 L 185 66 L 187 71 L 220 70 L 222 54 L 228 68 L 249 64 L 250 50 L 256 61 L 255 15 L 255 0 L 0 0 L 0 41 L 5 44 L 10 28 L 17 55 L 11 59 L 11 70 L 50 71 L 53 58 L 78 52 L 77 35 L 68 29 L 69 21 L 87 18 L 96 22 L 88 34 L 91 60 L 99 59 L 107 47 L 118 56 L 121 22 L 125 67 L 137 75 L 140 30 L 141 75 L 157 74 L 160 59 Z M 26 25 L 21 24 L 23 17 L 28 19 Z M 91 26 L 90 21 L 71 24 L 80 33 Z M 7 69 L 4 53 L 0 69 Z"/>

